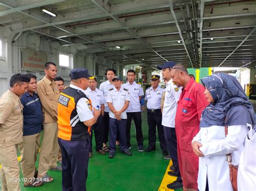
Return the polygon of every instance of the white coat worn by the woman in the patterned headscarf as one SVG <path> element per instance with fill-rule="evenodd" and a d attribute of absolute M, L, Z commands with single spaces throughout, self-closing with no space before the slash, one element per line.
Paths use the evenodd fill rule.
<path fill-rule="evenodd" d="M 209 128 L 200 128 L 192 140 L 203 145 L 199 148 L 204 154 L 204 157 L 199 157 L 197 180 L 199 190 L 205 190 L 206 177 L 208 177 L 210 190 L 233 190 L 226 154 L 232 153 L 232 163 L 235 166 L 239 164 L 241 152 L 244 150 L 242 143 L 245 140 L 246 131 L 246 125 L 228 126 L 226 137 L 225 126 L 213 125 Z"/>

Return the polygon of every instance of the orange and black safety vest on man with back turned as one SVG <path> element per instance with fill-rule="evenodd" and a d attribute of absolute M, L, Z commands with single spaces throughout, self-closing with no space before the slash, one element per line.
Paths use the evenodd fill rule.
<path fill-rule="evenodd" d="M 58 97 L 58 137 L 64 140 L 85 140 L 91 135 L 91 127 L 80 121 L 76 104 L 80 98 L 86 98 L 85 107 L 92 110 L 91 100 L 77 89 L 68 87 Z"/>

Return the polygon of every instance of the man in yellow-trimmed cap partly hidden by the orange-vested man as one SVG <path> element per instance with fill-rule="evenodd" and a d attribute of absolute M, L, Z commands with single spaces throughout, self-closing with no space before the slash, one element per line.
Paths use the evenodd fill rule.
<path fill-rule="evenodd" d="M 96 151 L 99 154 L 105 154 L 105 151 L 102 149 L 103 143 L 103 115 L 104 115 L 104 95 L 101 90 L 96 88 L 97 79 L 95 76 L 89 77 L 89 88 L 85 90 L 85 95 L 90 98 L 92 102 L 92 107 L 96 109 L 101 109 L 101 115 L 98 117 L 97 122 L 92 126 L 91 136 L 90 136 L 90 153 L 89 157 L 92 157 L 92 130 L 95 132 L 95 142 L 96 142 Z"/>

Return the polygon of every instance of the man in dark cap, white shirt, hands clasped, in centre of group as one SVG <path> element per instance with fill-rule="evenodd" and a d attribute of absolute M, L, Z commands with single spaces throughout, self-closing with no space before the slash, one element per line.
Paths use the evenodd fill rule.
<path fill-rule="evenodd" d="M 132 155 L 126 145 L 126 109 L 129 106 L 130 95 L 127 89 L 121 88 L 122 80 L 116 76 L 113 78 L 114 88 L 109 89 L 107 93 L 107 104 L 109 105 L 109 158 L 114 158 L 116 153 L 117 131 L 119 132 L 119 141 L 121 152 L 126 155 Z"/>

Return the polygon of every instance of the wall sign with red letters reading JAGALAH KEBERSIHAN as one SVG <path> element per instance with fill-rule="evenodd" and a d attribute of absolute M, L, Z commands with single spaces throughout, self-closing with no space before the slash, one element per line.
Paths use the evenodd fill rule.
<path fill-rule="evenodd" d="M 47 62 L 47 54 L 23 48 L 21 51 L 22 69 L 44 72 L 44 65 Z"/>

